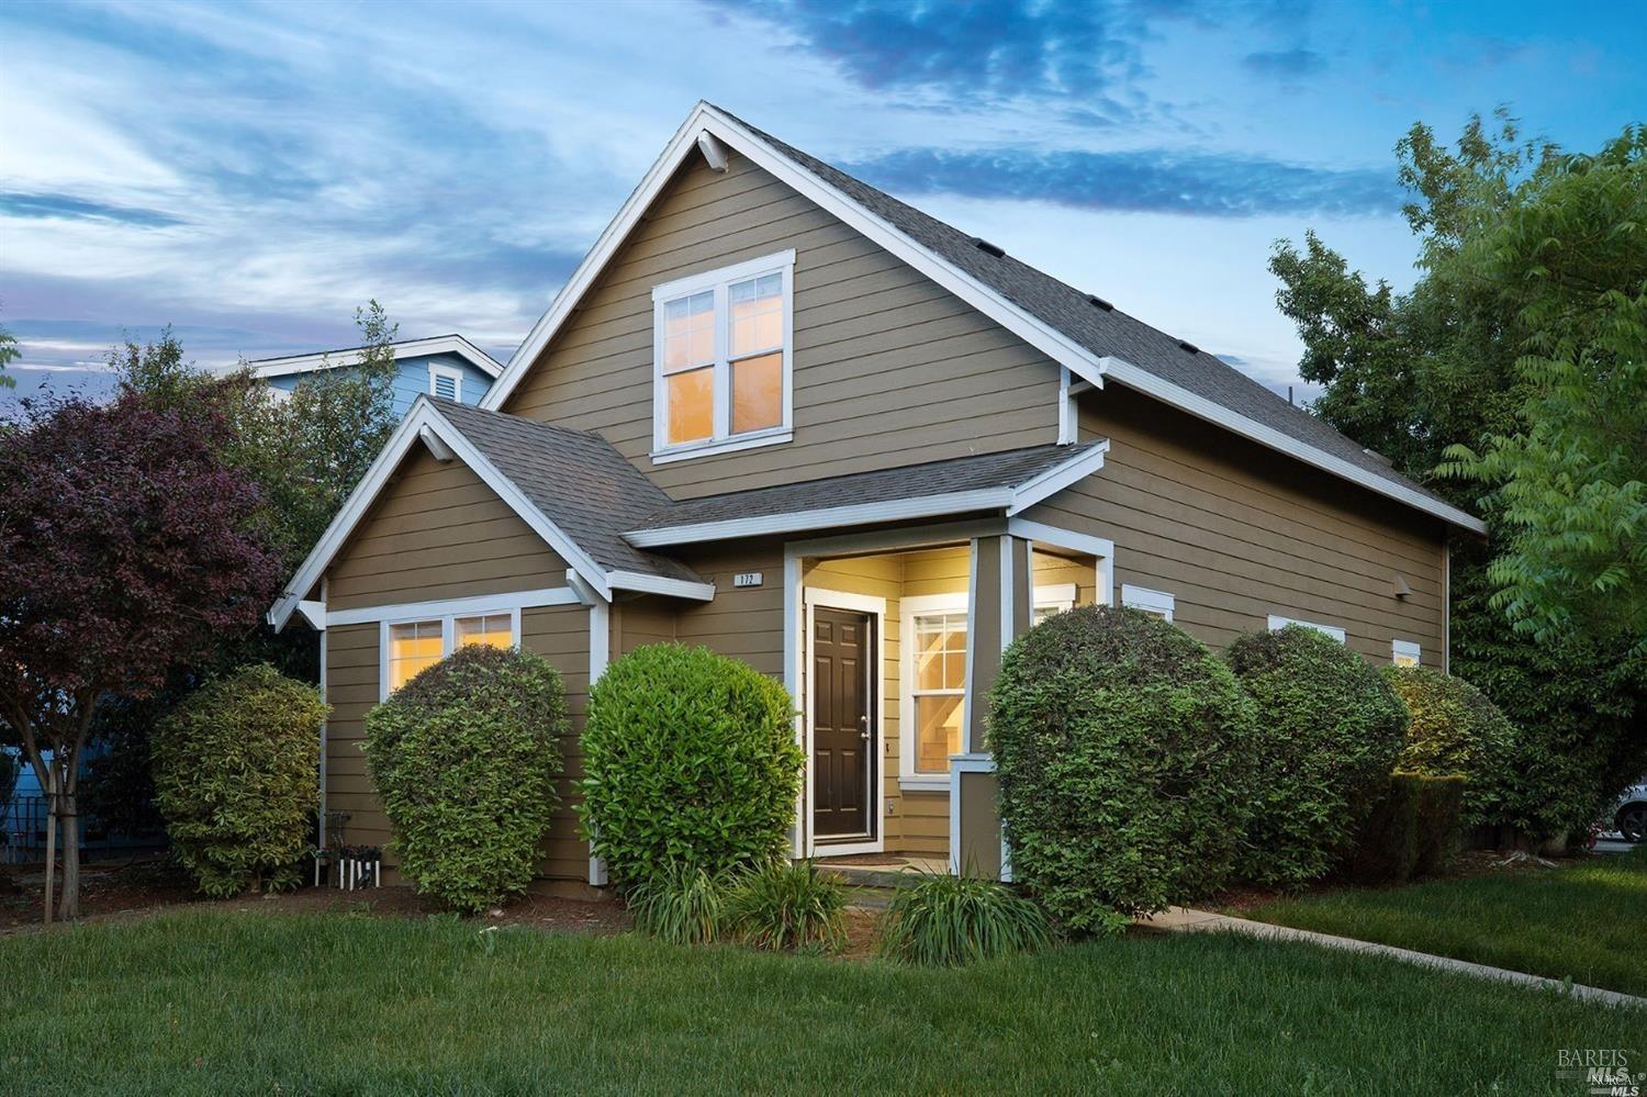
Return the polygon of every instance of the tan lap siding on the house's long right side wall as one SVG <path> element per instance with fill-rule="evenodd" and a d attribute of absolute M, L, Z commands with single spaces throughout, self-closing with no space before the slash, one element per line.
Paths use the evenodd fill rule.
<path fill-rule="evenodd" d="M 1439 524 L 1122 389 L 1082 397 L 1080 428 L 1110 438 L 1103 469 L 1026 517 L 1112 539 L 1117 593 L 1171 593 L 1215 646 L 1278 614 L 1339 626 L 1374 662 L 1408 639 L 1441 665 Z"/>

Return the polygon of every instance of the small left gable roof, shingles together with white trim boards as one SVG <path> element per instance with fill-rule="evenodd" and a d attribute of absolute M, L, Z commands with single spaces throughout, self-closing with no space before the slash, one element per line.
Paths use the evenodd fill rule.
<path fill-rule="evenodd" d="M 321 575 L 371 512 L 407 453 L 427 445 L 440 460 L 460 460 L 570 567 L 568 583 L 609 601 L 614 590 L 710 600 L 715 588 L 674 560 L 623 540 L 623 529 L 669 502 L 598 435 L 514 415 L 481 412 L 420 394 L 382 453 L 268 609 L 285 628 Z"/>

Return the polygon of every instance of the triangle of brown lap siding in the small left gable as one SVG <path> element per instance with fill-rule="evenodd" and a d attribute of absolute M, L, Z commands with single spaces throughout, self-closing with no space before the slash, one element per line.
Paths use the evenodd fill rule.
<path fill-rule="evenodd" d="M 326 573 L 331 609 L 567 585 L 567 563 L 460 461 L 408 456 Z"/>

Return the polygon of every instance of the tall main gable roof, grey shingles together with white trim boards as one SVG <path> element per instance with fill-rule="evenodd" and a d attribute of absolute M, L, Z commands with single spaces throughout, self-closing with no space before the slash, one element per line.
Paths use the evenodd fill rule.
<path fill-rule="evenodd" d="M 1105 379 L 1454 525 L 1486 524 L 1235 367 L 700 102 L 481 400 L 499 408 L 700 138 L 749 158 L 1084 380 Z"/>

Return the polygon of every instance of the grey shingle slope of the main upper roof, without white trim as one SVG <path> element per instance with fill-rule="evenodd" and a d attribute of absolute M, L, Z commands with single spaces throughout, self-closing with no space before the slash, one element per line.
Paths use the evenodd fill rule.
<path fill-rule="evenodd" d="M 716 107 L 716 110 L 721 109 Z M 728 110 L 721 110 L 721 114 L 736 119 Z M 977 237 L 967 236 L 960 229 L 898 201 L 891 194 L 800 152 L 794 145 L 741 119 L 736 120 L 777 153 L 791 158 L 917 244 L 931 249 L 1094 354 L 1125 359 L 1161 380 L 1212 400 L 1271 430 L 1278 430 L 1296 441 L 1303 441 L 1316 450 L 1342 458 L 1359 469 L 1444 502 L 1421 484 L 1392 469 L 1380 458 L 1362 451 L 1362 446 L 1352 438 L 1341 435 L 1309 412 L 1293 407 L 1288 400 L 1270 392 L 1234 366 L 1206 351 L 1187 351 L 1179 346 L 1178 338 L 1158 331 L 1118 308 L 1095 305 L 1085 292 L 1066 285 L 1052 275 L 1013 259 L 1010 254 L 990 254 L 978 247 Z"/>

